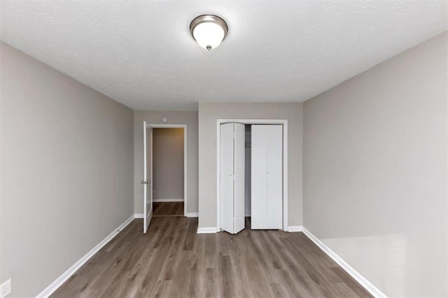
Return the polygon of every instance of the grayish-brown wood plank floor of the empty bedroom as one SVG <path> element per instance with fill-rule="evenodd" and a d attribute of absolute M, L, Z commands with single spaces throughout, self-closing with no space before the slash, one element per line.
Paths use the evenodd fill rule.
<path fill-rule="evenodd" d="M 52 297 L 371 297 L 304 234 L 134 220 Z M 246 222 L 248 227 L 248 222 Z"/>

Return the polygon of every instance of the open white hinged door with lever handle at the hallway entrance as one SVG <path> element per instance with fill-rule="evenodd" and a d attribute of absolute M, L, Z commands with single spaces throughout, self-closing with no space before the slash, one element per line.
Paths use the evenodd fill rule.
<path fill-rule="evenodd" d="M 143 159 L 144 172 L 143 180 L 143 201 L 144 201 L 144 220 L 143 232 L 148 231 L 149 223 L 153 218 L 153 127 L 146 127 L 146 121 L 143 122 Z"/>

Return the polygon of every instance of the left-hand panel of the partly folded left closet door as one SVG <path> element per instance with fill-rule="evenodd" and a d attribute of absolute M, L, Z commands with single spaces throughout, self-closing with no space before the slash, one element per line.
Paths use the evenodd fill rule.
<path fill-rule="evenodd" d="M 220 127 L 220 197 L 221 197 L 221 229 L 232 233 L 233 225 L 233 166 L 234 166 L 234 146 L 233 146 L 233 123 L 226 123 Z"/>

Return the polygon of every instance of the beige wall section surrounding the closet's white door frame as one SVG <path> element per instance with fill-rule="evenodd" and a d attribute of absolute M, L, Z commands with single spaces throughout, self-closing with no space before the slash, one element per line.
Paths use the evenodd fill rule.
<path fill-rule="evenodd" d="M 216 227 L 216 120 L 288 120 L 288 225 L 302 225 L 302 103 L 199 104 L 199 227 Z"/>

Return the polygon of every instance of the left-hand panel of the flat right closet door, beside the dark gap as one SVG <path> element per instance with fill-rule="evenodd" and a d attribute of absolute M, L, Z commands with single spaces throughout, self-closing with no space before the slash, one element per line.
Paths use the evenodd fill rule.
<path fill-rule="evenodd" d="M 252 125 L 251 148 L 251 229 L 267 229 L 265 125 Z"/>

